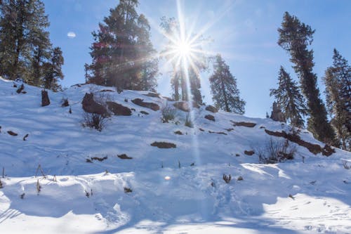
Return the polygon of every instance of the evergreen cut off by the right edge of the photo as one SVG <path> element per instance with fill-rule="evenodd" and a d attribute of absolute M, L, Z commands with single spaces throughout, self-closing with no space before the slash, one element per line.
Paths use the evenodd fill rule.
<path fill-rule="evenodd" d="M 351 67 L 334 48 L 333 66 L 324 76 L 326 106 L 343 150 L 351 151 Z"/>

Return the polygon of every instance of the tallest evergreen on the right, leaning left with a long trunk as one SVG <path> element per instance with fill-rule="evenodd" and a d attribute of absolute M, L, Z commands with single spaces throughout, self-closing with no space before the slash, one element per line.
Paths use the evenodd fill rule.
<path fill-rule="evenodd" d="M 312 44 L 314 30 L 300 22 L 288 12 L 284 14 L 282 27 L 278 29 L 279 46 L 290 53 L 293 69 L 300 78 L 301 90 L 307 99 L 307 129 L 315 138 L 326 143 L 335 143 L 335 134 L 326 117 L 326 108 L 317 88 L 317 75 L 313 73 L 313 51 L 307 48 Z"/>

